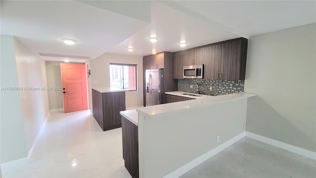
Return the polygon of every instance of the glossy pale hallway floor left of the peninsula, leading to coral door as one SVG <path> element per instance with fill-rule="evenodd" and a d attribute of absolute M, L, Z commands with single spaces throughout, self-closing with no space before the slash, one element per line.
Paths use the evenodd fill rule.
<path fill-rule="evenodd" d="M 103 132 L 90 110 L 51 113 L 30 164 L 4 178 L 131 178 L 122 158 L 121 128 Z"/>

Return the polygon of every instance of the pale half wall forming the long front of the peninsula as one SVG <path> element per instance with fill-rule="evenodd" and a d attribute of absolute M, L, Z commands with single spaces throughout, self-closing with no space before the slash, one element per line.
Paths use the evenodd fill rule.
<path fill-rule="evenodd" d="M 176 107 L 179 103 L 165 105 Z M 246 109 L 247 98 L 243 98 L 156 118 L 139 113 L 140 178 L 162 178 L 243 133 Z"/>

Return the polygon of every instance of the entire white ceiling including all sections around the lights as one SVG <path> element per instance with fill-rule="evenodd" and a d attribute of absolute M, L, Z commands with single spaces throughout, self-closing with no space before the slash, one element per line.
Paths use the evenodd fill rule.
<path fill-rule="evenodd" d="M 316 22 L 316 1 L 0 1 L 3 35 L 35 52 L 95 59 L 149 55 Z M 157 43 L 149 38 L 156 35 Z M 65 45 L 62 38 L 77 41 Z M 180 47 L 185 40 L 186 47 Z M 127 51 L 128 45 L 133 51 Z M 63 60 L 44 57 L 45 60 Z M 71 61 L 85 62 L 74 58 Z"/>

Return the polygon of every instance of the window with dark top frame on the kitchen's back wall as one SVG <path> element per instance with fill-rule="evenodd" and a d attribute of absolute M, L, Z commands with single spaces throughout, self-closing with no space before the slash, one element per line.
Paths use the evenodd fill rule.
<path fill-rule="evenodd" d="M 110 86 L 127 91 L 136 90 L 136 66 L 110 63 Z"/>

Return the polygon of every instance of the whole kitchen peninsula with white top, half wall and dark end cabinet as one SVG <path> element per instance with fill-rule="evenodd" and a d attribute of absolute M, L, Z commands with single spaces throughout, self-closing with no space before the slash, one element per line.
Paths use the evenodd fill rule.
<path fill-rule="evenodd" d="M 134 151 L 123 146 L 125 167 L 130 173 L 139 169 L 133 178 L 181 176 L 222 143 L 232 144 L 244 136 L 247 98 L 253 96 L 234 93 L 121 111 L 122 122 L 134 128 L 122 126 L 123 145 L 133 142 Z M 126 140 L 124 132 L 133 132 L 137 140 L 135 136 Z M 127 153 L 138 155 L 139 163 L 126 166 L 131 161 L 125 160 Z"/>

